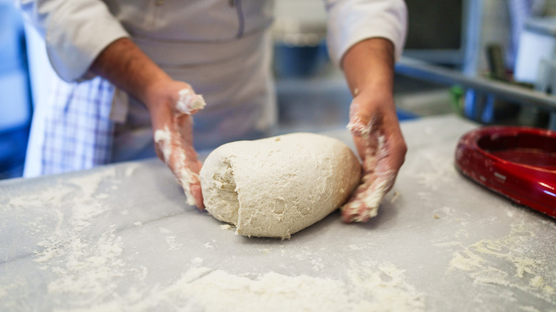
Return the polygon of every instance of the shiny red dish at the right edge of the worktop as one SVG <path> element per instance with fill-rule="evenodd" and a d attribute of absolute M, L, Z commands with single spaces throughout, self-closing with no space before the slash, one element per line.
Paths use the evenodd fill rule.
<path fill-rule="evenodd" d="M 556 132 L 493 126 L 463 135 L 455 165 L 475 182 L 556 218 Z"/>

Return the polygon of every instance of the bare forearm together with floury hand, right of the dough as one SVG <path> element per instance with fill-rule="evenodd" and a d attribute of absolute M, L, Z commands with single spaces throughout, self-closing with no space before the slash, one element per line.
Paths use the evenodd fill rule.
<path fill-rule="evenodd" d="M 343 59 L 354 95 L 348 128 L 363 160 L 361 184 L 341 207 L 346 222 L 365 222 L 376 215 L 406 155 L 393 101 L 393 60 L 393 44 L 382 38 L 357 43 Z"/>

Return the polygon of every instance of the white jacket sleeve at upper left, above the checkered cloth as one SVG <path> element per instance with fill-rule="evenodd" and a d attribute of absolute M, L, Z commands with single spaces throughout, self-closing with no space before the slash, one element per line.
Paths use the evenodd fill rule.
<path fill-rule="evenodd" d="M 101 0 L 16 0 L 43 36 L 54 71 L 68 82 L 91 78 L 88 69 L 103 49 L 128 37 Z"/>

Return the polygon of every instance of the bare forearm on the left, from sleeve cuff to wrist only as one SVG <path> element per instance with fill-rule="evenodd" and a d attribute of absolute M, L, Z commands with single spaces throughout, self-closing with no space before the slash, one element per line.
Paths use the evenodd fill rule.
<path fill-rule="evenodd" d="M 149 106 L 157 83 L 171 78 L 128 38 L 110 43 L 96 58 L 91 71 Z M 149 108 L 150 109 L 150 108 Z"/>

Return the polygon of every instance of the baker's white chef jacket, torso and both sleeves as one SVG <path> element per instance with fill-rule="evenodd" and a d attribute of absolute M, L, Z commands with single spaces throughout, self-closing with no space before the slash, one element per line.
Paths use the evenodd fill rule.
<path fill-rule="evenodd" d="M 272 24 L 272 0 L 16 0 L 16 3 L 43 34 L 54 71 L 79 88 L 94 80 L 89 80 L 93 76 L 88 68 L 98 53 L 122 37 L 131 38 L 172 78 L 190 83 L 207 102 L 206 108 L 195 115 L 196 146 L 215 147 L 252 133 L 264 133 L 275 123 L 272 41 L 268 31 Z M 324 3 L 328 14 L 327 41 L 334 63 L 338 64 L 354 43 L 372 37 L 388 38 L 395 46 L 396 58 L 401 56 L 406 36 L 403 0 Z M 86 91 L 87 95 L 93 89 Z M 108 132 L 113 135 L 123 134 L 125 138 L 127 130 L 150 127 L 146 109 L 120 90 L 114 90 L 110 105 L 108 118 L 114 129 Z M 41 135 L 41 129 L 31 129 L 31 138 L 34 135 Z M 129 140 L 120 141 L 118 144 Z M 105 161 L 110 159 L 101 160 Z M 75 170 L 93 165 L 98 164 L 76 165 Z M 41 173 L 45 172 L 48 170 Z"/>

